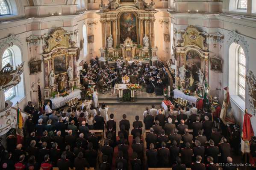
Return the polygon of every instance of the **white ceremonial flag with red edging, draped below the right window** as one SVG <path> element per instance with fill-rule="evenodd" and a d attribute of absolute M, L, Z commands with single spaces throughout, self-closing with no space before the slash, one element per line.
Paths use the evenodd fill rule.
<path fill-rule="evenodd" d="M 224 88 L 224 90 L 226 90 L 227 93 L 224 95 L 220 118 L 224 125 L 235 124 L 235 118 L 232 114 L 232 107 L 230 104 L 230 94 L 227 87 Z"/>

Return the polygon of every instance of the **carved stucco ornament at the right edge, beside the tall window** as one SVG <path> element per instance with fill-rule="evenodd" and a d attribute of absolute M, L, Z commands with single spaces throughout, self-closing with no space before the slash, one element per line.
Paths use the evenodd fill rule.
<path fill-rule="evenodd" d="M 256 116 L 256 77 L 254 76 L 253 71 L 247 71 L 246 82 L 249 91 L 250 111 Z"/>

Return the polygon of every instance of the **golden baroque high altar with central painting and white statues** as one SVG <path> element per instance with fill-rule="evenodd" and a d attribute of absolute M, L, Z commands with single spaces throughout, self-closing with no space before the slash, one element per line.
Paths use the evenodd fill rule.
<path fill-rule="evenodd" d="M 102 48 L 100 65 L 116 60 L 139 60 L 154 65 L 157 63 L 157 48 L 154 44 L 154 3 L 143 0 L 112 0 L 100 4 L 102 25 Z M 151 61 L 151 62 L 150 62 Z"/>

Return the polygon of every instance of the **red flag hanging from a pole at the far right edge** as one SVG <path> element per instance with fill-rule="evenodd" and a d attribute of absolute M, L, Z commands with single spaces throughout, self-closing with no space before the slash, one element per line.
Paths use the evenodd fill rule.
<path fill-rule="evenodd" d="M 243 140 L 244 141 L 250 141 L 251 136 L 254 136 L 253 127 L 250 120 L 251 117 L 252 115 L 247 113 L 247 110 L 245 110 L 244 122 L 243 122 Z"/>

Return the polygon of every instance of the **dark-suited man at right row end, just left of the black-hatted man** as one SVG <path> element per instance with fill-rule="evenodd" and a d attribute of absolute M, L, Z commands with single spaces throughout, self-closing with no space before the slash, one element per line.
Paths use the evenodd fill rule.
<path fill-rule="evenodd" d="M 231 156 L 231 148 L 230 144 L 227 143 L 227 139 L 222 137 L 221 138 L 221 144 L 219 144 L 219 150 L 221 153 L 221 163 L 227 163 L 227 157 Z"/>

